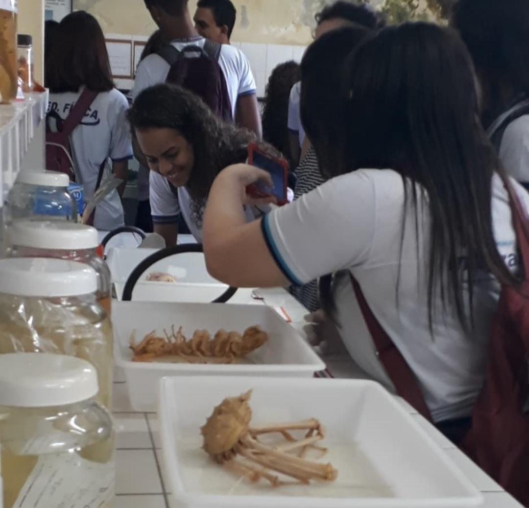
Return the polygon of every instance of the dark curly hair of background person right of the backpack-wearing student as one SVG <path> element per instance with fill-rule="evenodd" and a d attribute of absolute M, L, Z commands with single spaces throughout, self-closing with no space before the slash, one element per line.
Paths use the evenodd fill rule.
<path fill-rule="evenodd" d="M 290 90 L 301 80 L 301 67 L 294 61 L 281 63 L 271 73 L 263 109 L 263 138 L 290 161 L 288 100 Z"/>

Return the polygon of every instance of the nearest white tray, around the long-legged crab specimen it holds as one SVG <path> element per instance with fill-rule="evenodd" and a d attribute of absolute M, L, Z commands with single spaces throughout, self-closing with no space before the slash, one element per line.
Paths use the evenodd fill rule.
<path fill-rule="evenodd" d="M 256 426 L 317 418 L 334 483 L 251 484 L 202 450 L 199 429 L 226 396 L 253 389 Z M 163 467 L 178 508 L 463 508 L 483 502 L 448 455 L 371 381 L 167 377 L 160 383 Z"/>

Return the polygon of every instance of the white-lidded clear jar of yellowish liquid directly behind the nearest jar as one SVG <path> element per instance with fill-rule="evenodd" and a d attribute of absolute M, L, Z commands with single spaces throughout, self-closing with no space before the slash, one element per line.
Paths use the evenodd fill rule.
<path fill-rule="evenodd" d="M 86 264 L 51 258 L 0 260 L 0 354 L 56 353 L 95 366 L 97 401 L 111 408 L 112 325 L 96 302 Z"/>

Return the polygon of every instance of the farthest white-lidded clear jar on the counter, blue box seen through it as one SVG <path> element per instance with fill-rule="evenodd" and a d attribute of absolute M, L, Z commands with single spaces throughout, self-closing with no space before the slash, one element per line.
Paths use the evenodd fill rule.
<path fill-rule="evenodd" d="M 77 205 L 67 188 L 70 180 L 65 173 L 54 171 L 21 171 L 7 195 L 5 224 L 13 220 L 77 221 Z"/>

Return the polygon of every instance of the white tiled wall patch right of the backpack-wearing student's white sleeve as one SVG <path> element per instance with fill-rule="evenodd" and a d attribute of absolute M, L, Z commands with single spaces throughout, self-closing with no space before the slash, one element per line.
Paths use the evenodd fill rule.
<path fill-rule="evenodd" d="M 265 88 L 271 72 L 280 63 L 294 60 L 301 62 L 305 46 L 288 46 L 284 44 L 256 44 L 253 42 L 234 42 L 250 61 L 253 76 L 257 82 L 257 96 L 265 96 Z"/>

